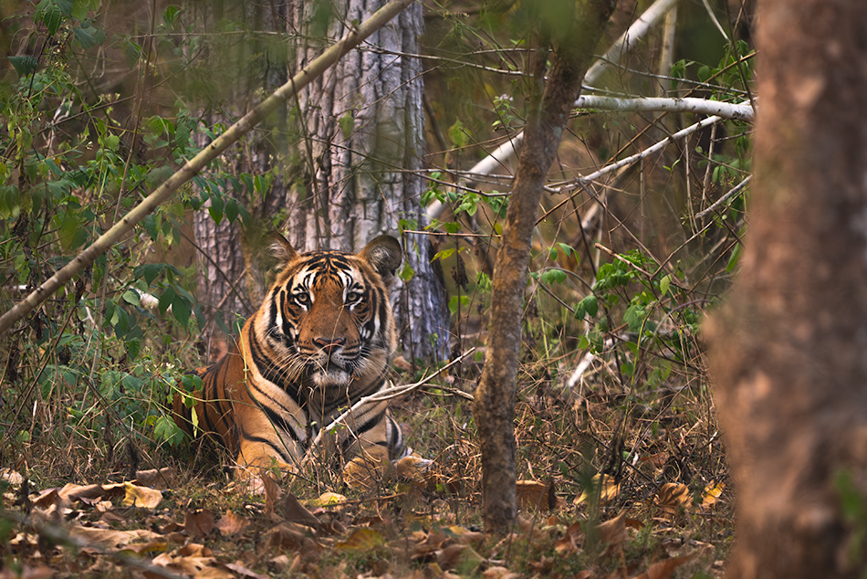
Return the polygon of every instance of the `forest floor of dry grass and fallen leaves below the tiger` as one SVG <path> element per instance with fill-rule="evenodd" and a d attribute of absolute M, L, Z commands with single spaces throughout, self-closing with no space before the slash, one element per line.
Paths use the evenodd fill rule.
<path fill-rule="evenodd" d="M 0 579 L 721 575 L 734 500 L 707 385 L 625 391 L 601 369 L 566 387 L 550 361 L 522 369 L 506 537 L 483 532 L 472 403 L 454 395 L 472 391 L 467 364 L 393 408 L 434 467 L 365 491 L 314 468 L 251 492 L 207 447 L 131 452 L 126 474 L 87 479 L 31 453 L 2 471 Z"/>

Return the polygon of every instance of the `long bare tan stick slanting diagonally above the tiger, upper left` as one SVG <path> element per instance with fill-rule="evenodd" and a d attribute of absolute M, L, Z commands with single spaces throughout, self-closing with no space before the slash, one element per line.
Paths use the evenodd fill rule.
<path fill-rule="evenodd" d="M 79 253 L 66 266 L 60 268 L 57 273 L 42 283 L 24 300 L 19 301 L 15 307 L 6 311 L 3 316 L 0 316 L 0 336 L 4 335 L 12 327 L 12 324 L 37 308 L 40 303 L 68 282 L 69 279 L 72 279 L 82 269 L 87 268 L 99 255 L 107 251 L 112 244 L 129 233 L 131 228 L 139 223 L 141 219 L 148 216 L 157 206 L 171 198 L 181 185 L 190 181 L 196 174 L 202 171 L 207 163 L 213 161 L 229 145 L 238 141 L 247 132 L 250 132 L 268 114 L 277 110 L 277 107 L 292 97 L 295 91 L 306 87 L 312 79 L 319 77 L 331 65 L 337 62 L 339 58 L 347 54 L 352 48 L 357 47 L 361 41 L 371 36 L 373 32 L 384 26 L 393 16 L 400 13 L 403 8 L 412 2 L 413 0 L 392 0 L 392 2 L 382 6 L 369 19 L 361 23 L 354 30 L 350 30 L 339 42 L 315 58 L 307 68 L 303 68 L 294 78 L 275 90 L 270 97 L 263 100 L 252 111 L 246 113 L 240 121 L 235 122 L 225 133 L 205 147 L 201 153 L 195 155 L 190 161 L 187 161 L 181 169 L 172 174 L 151 195 L 145 197 L 139 205 L 136 205 L 130 213 L 123 216 L 118 223 L 102 234 L 90 247 Z"/>

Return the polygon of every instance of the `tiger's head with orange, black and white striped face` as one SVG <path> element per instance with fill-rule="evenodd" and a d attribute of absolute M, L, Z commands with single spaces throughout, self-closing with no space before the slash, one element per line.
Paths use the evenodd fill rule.
<path fill-rule="evenodd" d="M 355 255 L 298 254 L 277 237 L 282 268 L 254 327 L 279 385 L 334 395 L 350 383 L 378 387 L 397 345 L 389 288 L 402 260 L 398 241 L 377 237 Z"/>

